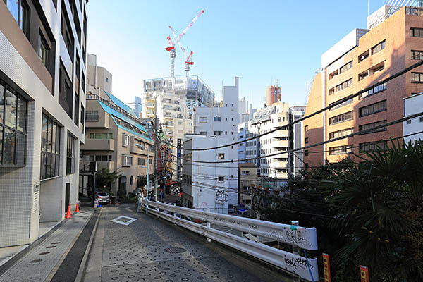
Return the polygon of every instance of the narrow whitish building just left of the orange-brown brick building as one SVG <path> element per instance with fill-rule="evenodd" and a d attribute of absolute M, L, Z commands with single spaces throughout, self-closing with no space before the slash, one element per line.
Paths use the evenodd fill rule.
<path fill-rule="evenodd" d="M 291 106 L 289 108 L 289 122 L 298 121 L 304 116 L 305 106 Z M 302 140 L 304 139 L 304 125 L 303 121 L 291 125 L 289 128 L 289 148 L 298 149 L 302 147 Z M 298 176 L 298 173 L 304 168 L 304 152 L 302 150 L 294 151 L 289 154 L 288 159 L 288 175 Z"/>

